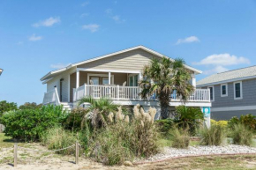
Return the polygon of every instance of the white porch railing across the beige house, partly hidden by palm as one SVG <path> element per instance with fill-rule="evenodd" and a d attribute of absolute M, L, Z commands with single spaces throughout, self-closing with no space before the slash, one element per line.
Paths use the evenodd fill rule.
<path fill-rule="evenodd" d="M 119 85 L 82 85 L 73 89 L 73 101 L 83 97 L 91 96 L 94 99 L 109 98 L 110 100 L 141 100 L 139 97 L 139 86 L 119 86 Z M 172 101 L 180 101 L 181 98 L 174 92 L 170 96 Z M 157 100 L 155 95 L 148 100 Z M 196 89 L 189 96 L 188 101 L 210 102 L 210 92 L 208 89 Z"/>

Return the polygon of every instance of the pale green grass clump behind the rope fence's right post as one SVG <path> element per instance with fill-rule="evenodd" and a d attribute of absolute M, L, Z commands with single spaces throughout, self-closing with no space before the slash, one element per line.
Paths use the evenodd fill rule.
<path fill-rule="evenodd" d="M 41 142 L 46 145 L 49 150 L 58 150 L 76 143 L 78 137 L 72 132 L 64 130 L 61 127 L 54 127 L 47 129 L 41 134 Z M 75 147 L 59 151 L 61 154 L 74 154 Z"/>

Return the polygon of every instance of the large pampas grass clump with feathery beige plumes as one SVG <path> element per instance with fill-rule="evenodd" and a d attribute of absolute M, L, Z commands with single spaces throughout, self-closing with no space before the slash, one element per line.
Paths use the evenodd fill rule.
<path fill-rule="evenodd" d="M 136 106 L 133 111 L 132 121 L 121 109 L 116 115 L 109 114 L 108 126 L 95 130 L 88 154 L 104 164 L 114 165 L 134 156 L 149 157 L 158 152 L 158 132 L 153 123 L 156 110 L 150 108 L 147 114 Z"/>

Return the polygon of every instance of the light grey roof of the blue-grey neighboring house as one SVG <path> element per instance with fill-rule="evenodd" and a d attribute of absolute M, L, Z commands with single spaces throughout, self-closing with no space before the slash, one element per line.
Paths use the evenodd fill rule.
<path fill-rule="evenodd" d="M 234 82 L 243 79 L 256 78 L 256 66 L 246 67 L 237 70 L 221 72 L 197 82 L 197 87 L 206 85 L 218 85 L 222 83 Z"/>

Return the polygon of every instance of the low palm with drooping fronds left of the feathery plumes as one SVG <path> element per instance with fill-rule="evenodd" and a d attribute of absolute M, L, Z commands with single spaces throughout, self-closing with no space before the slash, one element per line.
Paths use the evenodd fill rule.
<path fill-rule="evenodd" d="M 109 113 L 116 112 L 118 107 L 111 100 L 105 98 L 95 100 L 92 97 L 85 97 L 79 100 L 79 106 L 83 103 L 90 103 L 90 106 L 87 115 L 82 118 L 82 124 L 90 119 L 95 129 L 106 126 Z"/>

